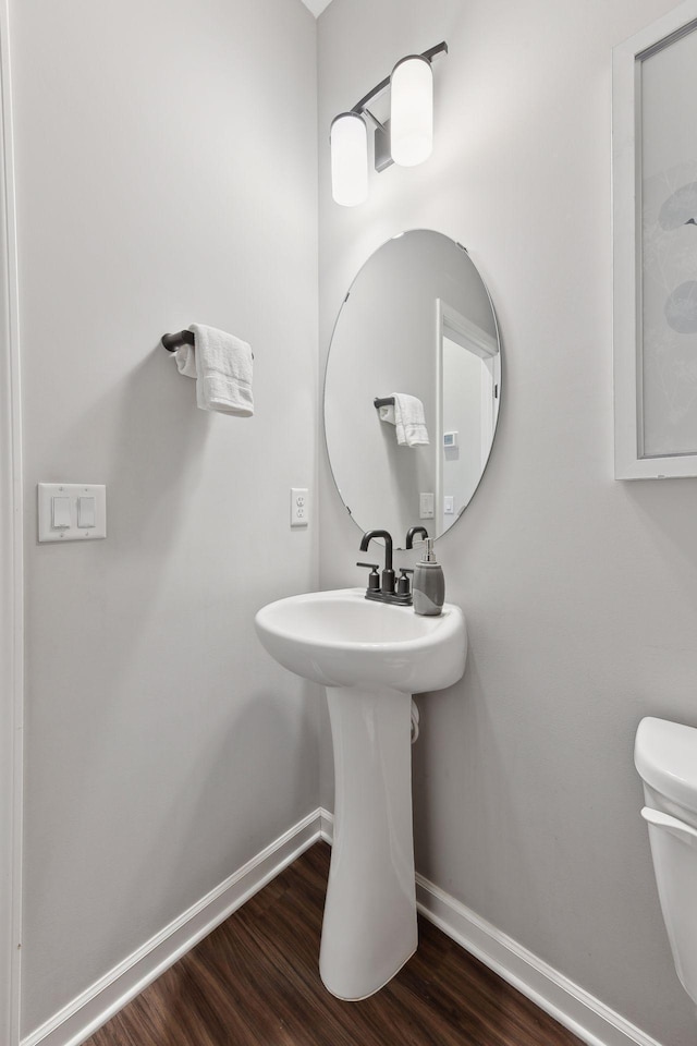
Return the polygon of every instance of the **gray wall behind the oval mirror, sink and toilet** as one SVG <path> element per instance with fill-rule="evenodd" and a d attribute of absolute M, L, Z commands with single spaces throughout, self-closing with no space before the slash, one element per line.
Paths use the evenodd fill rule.
<path fill-rule="evenodd" d="M 504 399 L 485 479 L 437 545 L 470 645 L 462 684 L 419 698 L 417 864 L 658 1039 L 687 1046 L 693 1008 L 632 746 L 646 714 L 697 725 L 697 483 L 612 476 L 610 52 L 672 7 L 333 0 L 319 20 L 320 354 L 387 238 L 430 227 L 468 247 L 501 323 Z M 374 175 L 362 207 L 337 207 L 331 118 L 443 38 L 432 158 Z M 321 585 L 355 584 L 359 533 L 323 457 L 320 470 Z M 331 806 L 327 730 L 322 796 Z"/>

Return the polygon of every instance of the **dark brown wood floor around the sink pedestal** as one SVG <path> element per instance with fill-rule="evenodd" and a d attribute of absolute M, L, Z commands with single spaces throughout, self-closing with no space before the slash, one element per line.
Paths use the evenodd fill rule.
<path fill-rule="evenodd" d="M 308 850 L 86 1046 L 580 1046 L 424 920 L 386 988 L 333 998 L 317 970 L 329 856 Z"/>

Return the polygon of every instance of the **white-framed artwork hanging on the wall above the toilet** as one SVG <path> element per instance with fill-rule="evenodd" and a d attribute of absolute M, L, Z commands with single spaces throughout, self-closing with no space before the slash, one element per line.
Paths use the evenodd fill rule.
<path fill-rule="evenodd" d="M 612 74 L 615 479 L 697 476 L 697 0 Z"/>

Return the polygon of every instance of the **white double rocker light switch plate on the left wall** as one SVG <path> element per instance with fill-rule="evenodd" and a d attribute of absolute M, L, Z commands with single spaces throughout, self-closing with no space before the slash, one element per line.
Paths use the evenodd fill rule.
<path fill-rule="evenodd" d="M 107 536 L 107 488 L 95 483 L 39 483 L 39 542 Z"/>

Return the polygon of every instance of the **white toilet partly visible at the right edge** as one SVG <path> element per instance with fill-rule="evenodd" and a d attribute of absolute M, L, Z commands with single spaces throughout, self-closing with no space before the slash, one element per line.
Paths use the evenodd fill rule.
<path fill-rule="evenodd" d="M 697 730 L 643 719 L 634 762 L 644 780 L 661 910 L 681 984 L 697 1002 Z"/>

